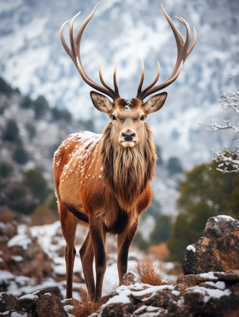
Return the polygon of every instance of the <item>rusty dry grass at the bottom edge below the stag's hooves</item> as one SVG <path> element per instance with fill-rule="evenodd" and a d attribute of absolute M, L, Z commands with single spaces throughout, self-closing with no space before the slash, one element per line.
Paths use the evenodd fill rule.
<path fill-rule="evenodd" d="M 76 317 L 87 317 L 99 309 L 100 302 L 91 302 L 87 290 L 80 288 L 80 294 L 81 303 L 73 299 L 74 308 L 71 310 L 71 314 L 74 314 Z"/>

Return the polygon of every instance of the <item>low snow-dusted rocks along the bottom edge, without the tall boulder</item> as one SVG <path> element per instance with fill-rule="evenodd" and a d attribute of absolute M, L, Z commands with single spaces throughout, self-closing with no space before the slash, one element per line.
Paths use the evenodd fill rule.
<path fill-rule="evenodd" d="M 151 286 L 140 283 L 128 272 L 115 291 L 101 299 L 100 308 L 91 317 L 157 316 L 231 316 L 239 315 L 239 270 L 208 272 L 181 276 L 173 285 Z M 81 316 L 82 303 L 60 300 L 55 294 L 40 290 L 16 299 L 0 294 L 0 315 L 8 317 Z M 6 311 L 7 309 L 7 311 Z"/>

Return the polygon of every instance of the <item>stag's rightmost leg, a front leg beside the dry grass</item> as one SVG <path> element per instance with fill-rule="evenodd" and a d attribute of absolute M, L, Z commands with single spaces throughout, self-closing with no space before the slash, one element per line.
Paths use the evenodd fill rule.
<path fill-rule="evenodd" d="M 117 239 L 117 268 L 119 273 L 119 283 L 121 283 L 124 274 L 127 272 L 128 249 L 133 240 L 138 227 L 138 221 L 128 230 L 118 234 Z"/>

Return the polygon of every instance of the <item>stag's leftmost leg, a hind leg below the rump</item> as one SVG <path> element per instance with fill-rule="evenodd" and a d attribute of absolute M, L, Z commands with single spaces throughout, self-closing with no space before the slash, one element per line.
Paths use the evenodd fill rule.
<path fill-rule="evenodd" d="M 77 221 L 67 208 L 61 204 L 59 208 L 61 229 L 66 241 L 65 264 L 66 264 L 66 298 L 72 298 L 73 267 L 75 260 L 75 236 Z"/>

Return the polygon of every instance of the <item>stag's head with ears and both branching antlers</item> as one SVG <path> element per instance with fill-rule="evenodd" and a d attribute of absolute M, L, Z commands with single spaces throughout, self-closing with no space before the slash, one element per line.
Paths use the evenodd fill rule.
<path fill-rule="evenodd" d="M 163 92 L 157 95 L 150 97 L 147 101 L 144 102 L 144 99 L 155 93 L 158 92 L 165 87 L 172 84 L 179 76 L 180 71 L 182 69 L 183 63 L 185 62 L 188 55 L 191 53 L 194 45 L 196 43 L 196 31 L 193 28 L 194 36 L 192 43 L 190 45 L 190 38 L 191 38 L 191 31 L 188 23 L 183 18 L 177 18 L 186 28 L 186 39 L 182 34 L 177 30 L 175 24 L 167 15 L 166 11 L 164 10 L 163 6 L 161 5 L 163 14 L 167 19 L 170 27 L 173 30 L 175 35 L 177 49 L 178 49 L 178 56 L 177 61 L 174 67 L 172 74 L 162 83 L 157 84 L 159 74 L 160 74 L 160 66 L 159 63 L 157 64 L 157 74 L 154 81 L 145 89 L 142 90 L 143 82 L 144 82 L 144 62 L 142 60 L 142 72 L 141 72 L 141 80 L 138 88 L 138 93 L 135 98 L 131 100 L 125 100 L 120 97 L 119 90 L 116 81 L 116 66 L 114 68 L 114 75 L 113 75 L 113 83 L 114 89 L 111 88 L 106 84 L 104 81 L 103 75 L 101 73 L 101 67 L 99 64 L 99 78 L 102 85 L 99 85 L 91 80 L 91 78 L 86 74 L 80 57 L 80 43 L 83 31 L 93 17 L 98 4 L 95 6 L 94 10 L 91 14 L 85 19 L 82 23 L 81 27 L 79 28 L 77 35 L 73 36 L 73 26 L 76 18 L 79 16 L 80 12 L 73 17 L 70 22 L 70 44 L 71 49 L 66 45 L 64 37 L 63 37 L 63 29 L 65 25 L 69 22 L 66 21 L 63 23 L 60 29 L 60 38 L 61 43 L 69 56 L 72 58 L 73 62 L 75 63 L 80 75 L 82 76 L 83 80 L 90 85 L 92 88 L 96 89 L 97 91 L 104 93 L 105 95 L 109 96 L 113 100 L 111 101 L 105 95 L 91 92 L 91 100 L 95 108 L 101 112 L 105 112 L 112 121 L 112 130 L 113 133 L 116 135 L 118 139 L 118 144 L 124 147 L 133 147 L 139 143 L 141 140 L 143 123 L 148 115 L 152 112 L 158 111 L 164 104 L 167 93 Z M 157 84 L 157 85 L 156 85 Z"/>

